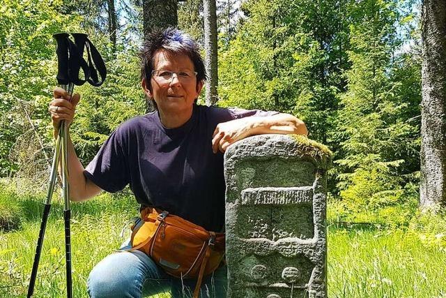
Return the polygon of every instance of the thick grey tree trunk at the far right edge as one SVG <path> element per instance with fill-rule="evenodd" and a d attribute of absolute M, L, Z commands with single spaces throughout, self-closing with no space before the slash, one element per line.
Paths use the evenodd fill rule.
<path fill-rule="evenodd" d="M 422 7 L 420 207 L 446 206 L 446 1 Z"/>

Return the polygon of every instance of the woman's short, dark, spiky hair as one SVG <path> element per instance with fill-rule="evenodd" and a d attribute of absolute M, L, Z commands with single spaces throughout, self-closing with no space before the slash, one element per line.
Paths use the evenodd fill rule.
<path fill-rule="evenodd" d="M 139 51 L 141 59 L 141 80 L 145 77 L 147 87 L 152 91 L 151 75 L 155 64 L 155 54 L 159 50 L 166 50 L 172 54 L 185 54 L 192 60 L 194 71 L 197 72 L 197 84 L 206 80 L 206 68 L 200 54 L 200 46 L 197 41 L 187 33 L 176 28 L 155 30 L 146 36 Z"/>

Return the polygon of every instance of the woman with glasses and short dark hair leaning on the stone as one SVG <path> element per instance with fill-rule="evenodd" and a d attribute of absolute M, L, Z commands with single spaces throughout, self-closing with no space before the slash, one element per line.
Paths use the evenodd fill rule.
<path fill-rule="evenodd" d="M 137 202 L 180 216 L 209 231 L 224 228 L 223 153 L 230 144 L 262 133 L 307 134 L 290 114 L 197 105 L 206 79 L 199 45 L 178 29 L 148 36 L 141 50 L 141 86 L 155 112 L 121 124 L 84 169 L 69 144 L 72 201 L 130 184 Z M 49 104 L 54 136 L 72 122 L 80 96 L 54 89 Z M 141 297 L 193 291 L 194 280 L 168 276 L 141 251 L 113 253 L 89 276 L 91 297 Z M 201 297 L 226 297 L 226 267 L 203 279 Z"/>

